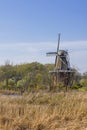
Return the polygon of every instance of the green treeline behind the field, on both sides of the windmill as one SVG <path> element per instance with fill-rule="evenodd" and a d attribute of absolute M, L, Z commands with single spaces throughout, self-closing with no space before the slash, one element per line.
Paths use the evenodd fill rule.
<path fill-rule="evenodd" d="M 49 89 L 52 80 L 50 79 L 49 70 L 53 70 L 53 64 L 40 64 L 38 62 L 11 65 L 6 62 L 0 66 L 0 89 L 9 90 L 38 90 Z M 87 90 L 87 73 L 81 75 L 74 69 L 72 89 Z"/>

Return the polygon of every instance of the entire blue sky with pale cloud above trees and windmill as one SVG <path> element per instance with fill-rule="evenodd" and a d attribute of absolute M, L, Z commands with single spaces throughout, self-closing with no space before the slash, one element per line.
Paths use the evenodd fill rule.
<path fill-rule="evenodd" d="M 0 65 L 54 63 L 58 33 L 71 67 L 87 72 L 87 0 L 0 0 Z"/>

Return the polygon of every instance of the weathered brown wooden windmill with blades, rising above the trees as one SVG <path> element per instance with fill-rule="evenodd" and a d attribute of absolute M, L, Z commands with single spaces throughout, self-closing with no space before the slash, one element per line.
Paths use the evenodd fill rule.
<path fill-rule="evenodd" d="M 66 50 L 60 50 L 60 34 L 58 35 L 58 46 L 56 52 L 48 52 L 47 56 L 56 56 L 54 70 L 49 71 L 53 80 L 52 86 L 57 86 L 58 83 L 62 82 L 65 87 L 71 85 L 73 71 L 70 67 L 69 54 Z"/>

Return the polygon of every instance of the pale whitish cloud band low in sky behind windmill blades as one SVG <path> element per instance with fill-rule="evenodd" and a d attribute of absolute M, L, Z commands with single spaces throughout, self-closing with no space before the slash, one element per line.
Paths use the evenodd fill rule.
<path fill-rule="evenodd" d="M 80 72 L 87 71 L 87 41 L 61 42 L 60 49 L 68 50 L 72 66 L 79 68 Z M 46 52 L 57 50 L 57 42 L 36 43 L 0 43 L 0 64 L 8 59 L 14 64 L 54 63 L 55 57 L 46 57 Z"/>

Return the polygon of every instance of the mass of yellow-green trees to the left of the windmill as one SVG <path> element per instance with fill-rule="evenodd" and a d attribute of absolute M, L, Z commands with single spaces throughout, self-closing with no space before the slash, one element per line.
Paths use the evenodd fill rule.
<path fill-rule="evenodd" d="M 6 63 L 0 67 L 0 81 L 2 86 L 16 86 L 17 88 L 43 88 L 49 84 L 48 69 L 38 62 L 10 65 Z M 4 84 L 5 83 L 5 84 Z M 41 86 L 41 87 L 40 87 Z"/>

